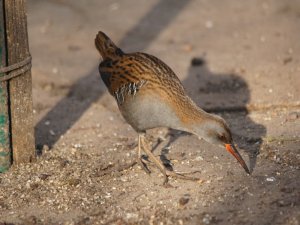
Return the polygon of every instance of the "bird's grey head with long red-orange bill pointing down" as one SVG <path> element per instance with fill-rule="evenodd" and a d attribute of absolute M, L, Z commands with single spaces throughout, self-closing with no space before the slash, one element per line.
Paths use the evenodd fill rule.
<path fill-rule="evenodd" d="M 199 126 L 194 127 L 194 132 L 199 138 L 222 148 L 225 147 L 225 149 L 237 159 L 245 171 L 250 174 L 245 161 L 233 143 L 230 129 L 223 118 L 217 115 L 207 114 L 207 119 L 199 124 Z"/>

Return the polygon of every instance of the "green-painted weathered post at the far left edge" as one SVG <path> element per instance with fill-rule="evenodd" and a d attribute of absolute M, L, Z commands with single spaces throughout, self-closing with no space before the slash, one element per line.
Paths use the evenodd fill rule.
<path fill-rule="evenodd" d="M 6 66 L 6 43 L 4 24 L 4 4 L 0 0 L 0 68 Z M 0 73 L 0 77 L 5 73 Z M 9 136 L 8 82 L 0 82 L 0 173 L 11 165 L 12 155 Z"/>

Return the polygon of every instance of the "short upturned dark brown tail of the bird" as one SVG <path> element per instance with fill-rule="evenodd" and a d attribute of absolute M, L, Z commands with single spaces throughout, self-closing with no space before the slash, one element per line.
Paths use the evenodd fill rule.
<path fill-rule="evenodd" d="M 116 59 L 124 54 L 102 31 L 98 32 L 95 38 L 95 45 L 103 59 Z"/>

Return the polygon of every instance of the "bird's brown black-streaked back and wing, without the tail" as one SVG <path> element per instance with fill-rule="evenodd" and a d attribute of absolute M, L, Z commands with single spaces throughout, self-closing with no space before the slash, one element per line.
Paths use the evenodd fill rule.
<path fill-rule="evenodd" d="M 115 60 L 104 60 L 99 66 L 99 71 L 110 93 L 127 83 L 144 80 L 147 82 L 147 88 L 159 89 L 169 97 L 185 96 L 184 88 L 174 72 L 161 60 L 148 54 L 124 54 Z"/>

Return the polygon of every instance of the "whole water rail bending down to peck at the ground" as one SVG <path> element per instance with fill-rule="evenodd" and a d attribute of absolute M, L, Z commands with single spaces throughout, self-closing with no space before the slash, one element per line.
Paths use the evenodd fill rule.
<path fill-rule="evenodd" d="M 225 147 L 245 171 L 249 169 L 237 151 L 225 120 L 199 108 L 187 96 L 176 74 L 155 56 L 136 52 L 125 53 L 103 32 L 99 31 L 95 45 L 102 61 L 101 78 L 109 93 L 117 101 L 125 120 L 138 133 L 137 162 L 150 172 L 142 160 L 143 150 L 164 175 L 187 178 L 167 170 L 145 143 L 148 129 L 167 127 L 197 135 L 205 141 Z"/>

